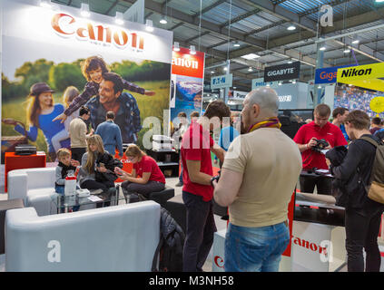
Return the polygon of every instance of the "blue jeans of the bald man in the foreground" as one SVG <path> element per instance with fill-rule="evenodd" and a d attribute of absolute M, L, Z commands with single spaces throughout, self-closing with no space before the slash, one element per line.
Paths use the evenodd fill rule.
<path fill-rule="evenodd" d="M 267 227 L 238 227 L 231 223 L 225 236 L 226 272 L 278 272 L 281 254 L 290 243 L 285 223 Z"/>

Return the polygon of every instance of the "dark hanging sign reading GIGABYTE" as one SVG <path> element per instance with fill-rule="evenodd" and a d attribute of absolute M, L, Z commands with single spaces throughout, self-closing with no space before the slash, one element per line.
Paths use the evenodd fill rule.
<path fill-rule="evenodd" d="M 300 77 L 300 62 L 266 67 L 264 82 L 296 80 Z"/>

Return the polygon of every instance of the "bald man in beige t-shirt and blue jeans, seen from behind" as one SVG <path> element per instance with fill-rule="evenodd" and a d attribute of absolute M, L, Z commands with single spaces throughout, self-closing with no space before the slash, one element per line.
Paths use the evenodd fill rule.
<path fill-rule="evenodd" d="M 279 98 L 268 87 L 247 94 L 241 121 L 246 132 L 225 155 L 214 199 L 229 207 L 226 272 L 277 272 L 290 242 L 288 204 L 301 171 L 300 151 L 277 117 Z"/>

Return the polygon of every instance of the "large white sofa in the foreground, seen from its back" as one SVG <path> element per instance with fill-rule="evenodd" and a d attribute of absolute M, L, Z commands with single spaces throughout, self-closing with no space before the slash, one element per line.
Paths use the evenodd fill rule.
<path fill-rule="evenodd" d="M 38 217 L 34 208 L 5 217 L 5 271 L 151 271 L 160 237 L 160 205 Z"/>

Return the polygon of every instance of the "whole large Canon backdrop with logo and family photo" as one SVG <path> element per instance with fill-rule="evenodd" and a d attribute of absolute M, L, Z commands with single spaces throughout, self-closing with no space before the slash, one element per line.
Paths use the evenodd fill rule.
<path fill-rule="evenodd" d="M 96 131 L 108 111 L 105 100 L 113 102 L 123 143 L 142 147 L 147 117 L 155 117 L 161 129 L 169 122 L 162 120 L 169 110 L 172 32 L 155 28 L 149 33 L 144 24 L 117 25 L 113 17 L 91 13 L 84 18 L 80 12 L 65 5 L 51 9 L 25 0 L 2 1 L 2 118 L 8 119 L 2 136 L 26 136 L 37 150 L 49 153 L 48 162 L 58 149 L 70 148 L 69 123 L 80 107 L 75 103 L 90 108 Z M 99 90 L 106 85 L 99 69 L 125 80 L 120 96 L 112 100 Z M 73 102 L 84 90 L 86 97 Z M 61 122 L 56 118 L 64 111 Z M 2 152 L 11 150 L 9 145 L 2 139 Z"/>

